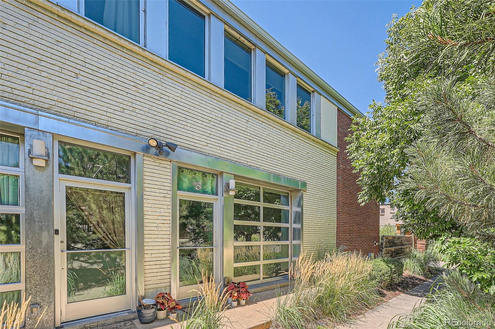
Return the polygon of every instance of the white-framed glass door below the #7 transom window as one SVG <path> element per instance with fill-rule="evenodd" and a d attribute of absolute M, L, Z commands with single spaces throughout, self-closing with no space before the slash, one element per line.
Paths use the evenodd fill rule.
<path fill-rule="evenodd" d="M 61 320 L 130 309 L 130 189 L 60 180 Z"/>

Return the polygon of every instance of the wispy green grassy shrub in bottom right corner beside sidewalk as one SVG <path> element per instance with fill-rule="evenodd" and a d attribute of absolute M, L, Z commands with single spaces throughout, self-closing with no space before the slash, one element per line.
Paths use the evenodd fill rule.
<path fill-rule="evenodd" d="M 388 328 L 494 328 L 495 299 L 454 270 L 441 277 L 426 304 L 400 316 Z"/>

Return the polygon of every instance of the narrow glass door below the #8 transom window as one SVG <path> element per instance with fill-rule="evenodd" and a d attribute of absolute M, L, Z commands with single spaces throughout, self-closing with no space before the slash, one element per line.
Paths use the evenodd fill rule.
<path fill-rule="evenodd" d="M 194 196 L 180 196 L 178 299 L 189 298 L 193 289 L 205 280 L 214 280 L 216 264 L 216 200 Z"/>

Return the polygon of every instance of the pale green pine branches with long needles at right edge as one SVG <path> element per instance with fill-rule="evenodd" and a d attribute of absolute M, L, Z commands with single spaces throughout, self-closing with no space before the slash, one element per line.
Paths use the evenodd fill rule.
<path fill-rule="evenodd" d="M 449 80 L 419 98 L 424 133 L 406 150 L 410 166 L 399 188 L 468 236 L 495 247 L 495 80 L 475 94 Z"/>

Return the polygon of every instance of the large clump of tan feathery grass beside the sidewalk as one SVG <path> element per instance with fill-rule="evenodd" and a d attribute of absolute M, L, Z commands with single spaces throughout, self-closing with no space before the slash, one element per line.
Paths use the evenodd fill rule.
<path fill-rule="evenodd" d="M 345 322 L 379 300 L 372 263 L 359 253 L 327 252 L 321 259 L 303 253 L 290 270 L 289 294 L 271 311 L 272 328 L 316 328 Z"/>

